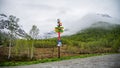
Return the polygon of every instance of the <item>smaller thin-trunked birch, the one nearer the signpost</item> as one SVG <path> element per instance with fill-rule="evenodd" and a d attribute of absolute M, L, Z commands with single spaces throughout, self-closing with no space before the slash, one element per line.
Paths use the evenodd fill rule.
<path fill-rule="evenodd" d="M 37 28 L 37 26 L 36 25 L 33 25 L 32 26 L 32 29 L 30 30 L 30 36 L 31 36 L 31 38 L 32 38 L 32 45 L 31 45 L 31 56 L 30 56 L 30 58 L 32 59 L 33 58 L 33 49 L 34 49 L 34 40 L 35 39 L 37 39 L 37 37 L 38 37 L 38 34 L 39 34 L 39 29 Z"/>

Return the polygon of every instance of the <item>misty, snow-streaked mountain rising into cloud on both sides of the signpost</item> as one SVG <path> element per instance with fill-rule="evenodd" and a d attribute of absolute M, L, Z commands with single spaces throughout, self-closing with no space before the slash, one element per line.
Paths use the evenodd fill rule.
<path fill-rule="evenodd" d="M 68 24 L 64 27 L 64 32 L 61 35 L 74 35 L 88 27 L 102 27 L 105 29 L 110 29 L 114 26 L 114 24 L 120 24 L 119 22 L 120 20 L 108 14 L 89 13 L 75 21 L 68 21 Z M 57 34 L 54 31 L 46 32 L 43 35 L 40 35 L 40 38 L 43 39 L 52 37 L 57 37 Z"/>

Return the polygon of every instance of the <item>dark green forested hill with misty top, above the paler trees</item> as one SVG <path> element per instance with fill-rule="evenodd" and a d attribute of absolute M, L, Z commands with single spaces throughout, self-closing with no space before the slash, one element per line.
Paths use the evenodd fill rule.
<path fill-rule="evenodd" d="M 79 31 L 78 33 L 65 36 L 64 38 L 81 41 L 81 42 L 89 42 L 89 41 L 97 41 L 100 39 L 118 39 L 120 37 L 120 25 L 118 24 L 110 24 L 107 22 L 97 22 L 92 24 L 92 26 Z"/>

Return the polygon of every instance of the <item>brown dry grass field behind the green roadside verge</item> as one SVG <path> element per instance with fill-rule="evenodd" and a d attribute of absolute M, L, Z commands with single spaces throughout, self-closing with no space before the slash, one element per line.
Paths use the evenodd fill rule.
<path fill-rule="evenodd" d="M 103 48 L 103 49 L 96 49 L 94 51 L 88 49 L 81 49 L 77 47 L 68 47 L 68 46 L 61 46 L 60 49 L 61 57 L 65 56 L 76 56 L 82 54 L 94 54 L 94 53 L 107 53 L 111 52 L 111 48 Z M 0 48 L 0 61 L 6 61 L 8 54 L 7 47 Z M 21 54 L 21 56 L 19 56 Z M 45 58 L 54 58 L 58 56 L 58 48 L 57 46 L 54 48 L 35 48 L 34 49 L 34 59 L 45 59 Z M 11 60 L 27 60 L 27 52 L 20 52 L 16 56 L 15 53 L 12 53 Z M 21 58 L 22 57 L 22 58 Z"/>

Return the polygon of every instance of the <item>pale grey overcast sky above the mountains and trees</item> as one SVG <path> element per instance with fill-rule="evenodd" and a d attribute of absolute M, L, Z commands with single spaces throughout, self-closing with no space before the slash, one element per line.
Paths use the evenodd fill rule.
<path fill-rule="evenodd" d="M 88 13 L 109 14 L 120 19 L 119 4 L 120 0 L 0 0 L 0 13 L 20 18 L 19 24 L 26 32 L 35 24 L 45 33 L 54 30 L 57 18 L 64 27 Z"/>

